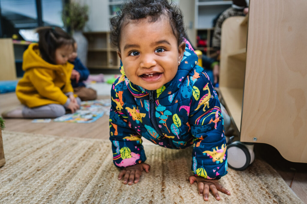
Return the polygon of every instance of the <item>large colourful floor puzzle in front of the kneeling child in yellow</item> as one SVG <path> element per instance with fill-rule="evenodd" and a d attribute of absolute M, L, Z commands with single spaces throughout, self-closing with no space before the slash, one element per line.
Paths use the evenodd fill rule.
<path fill-rule="evenodd" d="M 75 113 L 65 114 L 55 118 L 55 122 L 68 123 L 92 123 L 97 121 L 104 113 L 109 115 L 111 101 L 109 99 L 101 99 L 94 101 L 81 102 L 80 109 Z"/>

